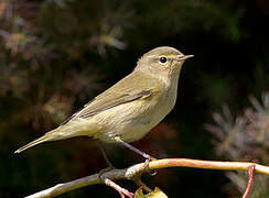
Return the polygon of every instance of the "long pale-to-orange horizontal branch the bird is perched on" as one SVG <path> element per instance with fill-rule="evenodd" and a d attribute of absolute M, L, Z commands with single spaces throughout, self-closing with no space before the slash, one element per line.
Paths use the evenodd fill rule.
<path fill-rule="evenodd" d="M 95 174 L 76 180 L 72 180 L 69 183 L 58 184 L 49 189 L 33 194 L 26 198 L 54 197 L 77 188 L 82 188 L 84 186 L 105 184 L 104 180 L 106 180 L 106 178 L 109 178 L 110 180 L 118 180 L 118 179 L 134 180 L 143 172 L 166 168 L 166 167 L 194 167 L 194 168 L 220 169 L 220 170 L 249 170 L 249 168 L 252 167 L 255 168 L 256 173 L 269 175 L 269 166 L 263 166 L 263 165 L 249 163 L 249 162 L 218 162 L 218 161 L 198 161 L 198 160 L 190 160 L 190 158 L 163 158 L 163 160 L 149 162 L 147 169 L 144 169 L 144 163 L 136 164 L 123 169 L 111 169 L 101 174 Z"/>

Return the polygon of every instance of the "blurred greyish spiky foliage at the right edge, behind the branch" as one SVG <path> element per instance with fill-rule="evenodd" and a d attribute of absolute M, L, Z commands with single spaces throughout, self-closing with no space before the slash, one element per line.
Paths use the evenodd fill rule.
<path fill-rule="evenodd" d="M 218 155 L 232 161 L 248 161 L 269 164 L 269 92 L 262 95 L 260 103 L 249 97 L 252 108 L 246 108 L 243 116 L 233 118 L 227 106 L 223 107 L 224 116 L 214 113 L 217 125 L 206 124 L 217 141 L 214 141 Z M 244 194 L 248 183 L 243 172 L 228 173 L 227 177 Z M 257 175 L 249 197 L 268 197 L 269 178 Z"/>

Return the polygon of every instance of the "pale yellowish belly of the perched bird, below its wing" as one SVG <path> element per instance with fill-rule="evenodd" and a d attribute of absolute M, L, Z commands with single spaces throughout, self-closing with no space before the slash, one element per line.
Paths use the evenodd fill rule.
<path fill-rule="evenodd" d="M 99 132 L 96 138 L 115 143 L 119 136 L 125 142 L 133 142 L 143 138 L 171 110 L 165 103 L 148 105 L 144 101 L 125 103 L 95 116 Z"/>

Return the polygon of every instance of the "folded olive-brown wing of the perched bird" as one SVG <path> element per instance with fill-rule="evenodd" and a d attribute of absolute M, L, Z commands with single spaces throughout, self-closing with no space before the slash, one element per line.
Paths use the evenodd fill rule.
<path fill-rule="evenodd" d="M 140 78 L 138 77 L 138 75 L 140 75 Z M 154 84 L 154 80 L 148 79 L 141 74 L 130 74 L 129 76 L 117 82 L 115 86 L 107 89 L 105 92 L 98 95 L 92 101 L 86 103 L 82 110 L 74 113 L 61 125 L 77 118 L 88 118 L 116 106 L 146 98 L 153 92 Z"/>

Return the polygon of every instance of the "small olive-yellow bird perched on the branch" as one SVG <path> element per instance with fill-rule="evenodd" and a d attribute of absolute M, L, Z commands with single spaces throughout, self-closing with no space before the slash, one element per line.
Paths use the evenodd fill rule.
<path fill-rule="evenodd" d="M 130 143 L 142 139 L 173 109 L 184 55 L 170 46 L 143 54 L 128 76 L 96 96 L 56 129 L 20 147 L 21 153 L 36 144 L 90 136 L 121 144 L 144 158 L 152 158 Z"/>

